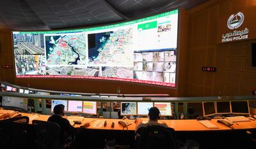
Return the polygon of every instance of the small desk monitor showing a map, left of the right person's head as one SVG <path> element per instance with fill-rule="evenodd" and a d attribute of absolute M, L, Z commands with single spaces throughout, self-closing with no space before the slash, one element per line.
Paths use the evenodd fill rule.
<path fill-rule="evenodd" d="M 121 115 L 137 115 L 135 102 L 121 102 Z"/>

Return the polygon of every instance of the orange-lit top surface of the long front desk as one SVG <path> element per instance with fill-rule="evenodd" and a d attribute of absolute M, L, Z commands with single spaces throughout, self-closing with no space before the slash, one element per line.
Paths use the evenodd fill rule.
<path fill-rule="evenodd" d="M 22 113 L 22 116 L 31 116 L 33 114 L 31 113 Z M 36 118 L 36 120 L 44 120 L 47 121 L 47 119 L 50 117 L 50 115 L 38 115 L 39 117 Z M 102 130 L 129 130 L 129 131 L 135 131 L 136 124 L 135 120 L 130 120 L 132 123 L 127 128 L 123 128 L 122 125 L 118 124 L 119 119 L 108 119 L 108 118 L 83 118 L 83 122 L 81 125 L 85 124 L 86 122 L 90 122 L 90 126 L 87 127 L 87 129 L 99 129 L 92 127 L 93 122 L 95 120 L 106 120 L 107 125 L 106 127 L 101 127 Z M 111 128 L 111 123 L 115 123 L 115 127 Z M 200 124 L 197 120 L 159 120 L 159 122 L 165 122 L 168 127 L 172 127 L 175 129 L 175 131 L 230 131 L 232 130 L 230 127 L 227 127 L 224 124 L 218 123 L 216 119 L 212 119 L 210 122 L 217 127 L 218 129 L 207 129 L 204 125 Z M 29 121 L 29 124 L 31 124 L 32 121 Z M 74 125 L 74 127 L 80 127 L 81 125 Z M 256 129 L 256 120 L 251 120 L 251 122 L 237 122 L 233 125 L 234 129 Z"/>

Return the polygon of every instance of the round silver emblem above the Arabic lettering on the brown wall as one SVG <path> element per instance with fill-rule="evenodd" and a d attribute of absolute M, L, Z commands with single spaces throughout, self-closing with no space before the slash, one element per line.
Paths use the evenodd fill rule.
<path fill-rule="evenodd" d="M 237 29 L 244 22 L 244 14 L 239 12 L 236 15 L 230 15 L 227 21 L 227 25 L 229 29 Z"/>

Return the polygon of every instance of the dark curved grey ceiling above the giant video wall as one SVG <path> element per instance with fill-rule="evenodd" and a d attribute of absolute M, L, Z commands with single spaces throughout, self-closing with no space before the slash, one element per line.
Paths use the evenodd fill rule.
<path fill-rule="evenodd" d="M 1 0 L 0 29 L 37 31 L 111 24 L 209 0 Z"/>

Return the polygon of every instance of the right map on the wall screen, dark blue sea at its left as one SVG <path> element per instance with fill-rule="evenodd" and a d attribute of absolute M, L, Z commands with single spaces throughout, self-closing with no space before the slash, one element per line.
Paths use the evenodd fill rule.
<path fill-rule="evenodd" d="M 132 29 L 88 34 L 88 42 L 95 41 L 88 50 L 89 64 L 104 66 L 132 66 Z"/>

